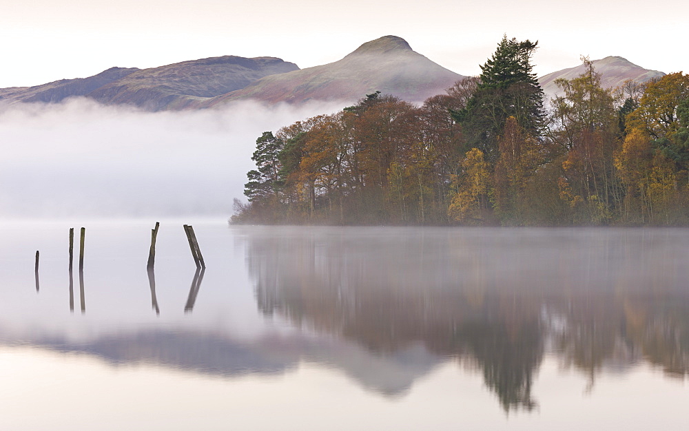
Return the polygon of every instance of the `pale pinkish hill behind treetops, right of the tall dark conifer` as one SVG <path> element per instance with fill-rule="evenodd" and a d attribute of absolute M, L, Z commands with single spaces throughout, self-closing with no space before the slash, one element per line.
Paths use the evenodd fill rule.
<path fill-rule="evenodd" d="M 645 83 L 653 78 L 660 78 L 665 76 L 663 72 L 657 70 L 648 70 L 631 63 L 627 59 L 617 56 L 609 56 L 604 59 L 594 60 L 593 67 L 596 72 L 601 74 L 601 85 L 605 88 L 615 88 L 622 85 L 624 81 L 631 79 L 637 83 Z M 559 78 L 573 79 L 586 72 L 583 64 L 577 67 L 570 67 L 569 69 L 558 70 L 541 76 L 538 78 L 543 91 L 546 94 L 546 100 L 553 98 L 555 94 L 559 93 L 559 87 L 555 84 L 555 80 Z"/>

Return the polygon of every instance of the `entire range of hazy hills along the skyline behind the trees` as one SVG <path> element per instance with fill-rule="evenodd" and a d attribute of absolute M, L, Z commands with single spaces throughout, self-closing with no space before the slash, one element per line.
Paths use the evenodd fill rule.
<path fill-rule="evenodd" d="M 594 60 L 601 85 L 614 88 L 632 79 L 644 83 L 664 76 L 621 56 Z M 546 101 L 557 95 L 558 78 L 572 79 L 584 72 L 577 65 L 538 78 Z M 338 61 L 300 69 L 277 57 L 234 55 L 207 57 L 138 69 L 111 67 L 87 78 L 62 79 L 32 87 L 0 89 L 0 103 L 59 103 L 83 96 L 104 105 L 134 105 L 147 111 L 205 109 L 226 103 L 351 103 L 380 91 L 409 102 L 442 94 L 465 78 L 415 52 L 399 36 L 387 35 L 362 43 Z"/>

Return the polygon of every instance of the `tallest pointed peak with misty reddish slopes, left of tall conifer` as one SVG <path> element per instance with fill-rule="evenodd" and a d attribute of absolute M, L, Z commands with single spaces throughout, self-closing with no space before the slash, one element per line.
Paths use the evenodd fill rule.
<path fill-rule="evenodd" d="M 353 102 L 377 90 L 420 102 L 443 93 L 462 78 L 412 50 L 404 39 L 383 36 L 364 43 L 334 63 L 266 76 L 243 90 L 217 96 L 198 106 L 247 99 L 265 103 Z"/>

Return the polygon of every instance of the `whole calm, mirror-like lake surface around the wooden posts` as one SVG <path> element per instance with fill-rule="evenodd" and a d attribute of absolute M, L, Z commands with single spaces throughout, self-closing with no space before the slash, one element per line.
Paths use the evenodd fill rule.
<path fill-rule="evenodd" d="M 0 229 L 0 429 L 689 429 L 689 230 L 152 224 Z"/>

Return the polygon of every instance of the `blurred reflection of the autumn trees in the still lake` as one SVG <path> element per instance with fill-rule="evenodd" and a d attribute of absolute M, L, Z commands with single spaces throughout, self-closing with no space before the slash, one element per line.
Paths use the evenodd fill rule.
<path fill-rule="evenodd" d="M 688 249 L 672 230 L 245 228 L 258 308 L 376 355 L 414 344 L 532 410 L 546 354 L 689 372 Z"/>

